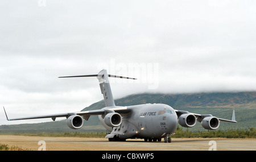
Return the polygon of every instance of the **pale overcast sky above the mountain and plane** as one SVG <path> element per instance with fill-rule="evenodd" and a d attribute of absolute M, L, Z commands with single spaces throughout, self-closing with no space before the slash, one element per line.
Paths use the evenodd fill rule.
<path fill-rule="evenodd" d="M 0 3 L 0 105 L 9 118 L 68 113 L 134 93 L 256 90 L 256 2 L 63 1 Z M 171 105 L 170 105 L 171 106 Z M 7 122 L 0 109 L 0 124 Z"/>

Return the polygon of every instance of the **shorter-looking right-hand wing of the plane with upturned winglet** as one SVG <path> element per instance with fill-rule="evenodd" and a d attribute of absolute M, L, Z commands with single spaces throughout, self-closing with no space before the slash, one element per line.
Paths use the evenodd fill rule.
<path fill-rule="evenodd" d="M 189 113 L 188 111 L 182 111 L 182 110 L 175 110 L 175 112 L 176 112 L 178 118 L 179 118 L 180 115 L 182 115 L 182 114 L 193 114 L 193 115 L 195 115 L 195 117 L 197 118 L 197 120 L 200 121 L 200 122 L 201 122 L 205 117 L 213 117 L 212 114 L 195 114 L 195 113 Z M 217 118 L 217 117 L 216 117 L 216 118 Z M 232 120 L 222 119 L 222 118 L 218 118 L 218 120 L 219 120 L 219 121 L 222 121 L 222 122 L 237 123 L 234 110 L 233 110 Z"/>

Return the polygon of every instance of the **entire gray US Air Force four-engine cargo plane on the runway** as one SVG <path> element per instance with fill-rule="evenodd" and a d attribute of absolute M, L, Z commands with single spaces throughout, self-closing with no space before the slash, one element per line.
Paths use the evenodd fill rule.
<path fill-rule="evenodd" d="M 196 121 L 207 130 L 215 130 L 220 126 L 220 121 L 237 123 L 233 110 L 232 120 L 213 117 L 211 114 L 195 114 L 188 111 L 175 110 L 171 106 L 162 103 L 146 103 L 134 106 L 115 106 L 112 91 L 110 89 L 109 77 L 126 78 L 135 80 L 136 78 L 114 76 L 108 74 L 105 69 L 98 74 L 68 77 L 97 77 L 103 94 L 105 107 L 99 110 L 79 111 L 74 113 L 42 115 L 25 118 L 6 118 L 7 121 L 38 119 L 38 118 L 67 118 L 67 125 L 72 129 L 79 129 L 83 126 L 84 120 L 88 121 L 91 115 L 98 115 L 102 125 L 110 133 L 106 135 L 109 141 L 125 141 L 126 139 L 144 139 L 145 142 L 158 141 L 162 138 L 165 143 L 170 143 L 170 135 L 175 134 L 177 124 L 182 127 L 193 127 Z M 3 107 L 5 110 L 5 107 Z"/>

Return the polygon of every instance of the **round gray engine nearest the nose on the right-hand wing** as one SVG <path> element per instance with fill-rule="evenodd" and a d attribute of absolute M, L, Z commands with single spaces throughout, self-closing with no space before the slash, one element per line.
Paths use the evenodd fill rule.
<path fill-rule="evenodd" d="M 182 114 L 178 122 L 183 127 L 193 127 L 196 124 L 196 117 L 193 114 Z"/>

